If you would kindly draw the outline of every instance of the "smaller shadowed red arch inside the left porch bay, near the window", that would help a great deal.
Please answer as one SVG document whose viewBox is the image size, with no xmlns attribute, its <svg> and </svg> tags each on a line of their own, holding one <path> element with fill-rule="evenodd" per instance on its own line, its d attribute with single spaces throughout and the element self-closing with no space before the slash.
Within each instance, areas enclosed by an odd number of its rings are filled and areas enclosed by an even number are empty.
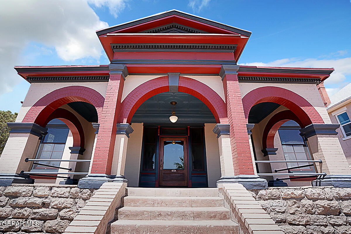
<svg viewBox="0 0 351 234">
<path fill-rule="evenodd" d="M 84 130 L 83 127 L 78 120 L 77 116 L 75 116 L 72 112 L 58 108 L 53 111 L 45 121 L 45 126 L 53 119 L 59 119 L 64 122 L 71 133 L 73 135 L 73 147 L 82 147 L 84 148 L 85 139 L 84 139 Z"/>
</svg>

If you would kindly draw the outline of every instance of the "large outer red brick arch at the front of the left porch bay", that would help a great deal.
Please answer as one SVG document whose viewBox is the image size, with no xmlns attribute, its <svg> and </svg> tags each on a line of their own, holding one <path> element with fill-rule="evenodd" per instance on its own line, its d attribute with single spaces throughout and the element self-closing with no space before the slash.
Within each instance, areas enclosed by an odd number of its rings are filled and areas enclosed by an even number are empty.
<svg viewBox="0 0 351 234">
<path fill-rule="evenodd" d="M 67 86 L 56 89 L 35 102 L 22 122 L 37 123 L 45 127 L 46 119 L 55 109 L 75 101 L 92 104 L 96 108 L 98 119 L 101 119 L 105 98 L 99 92 L 84 86 Z"/>
</svg>

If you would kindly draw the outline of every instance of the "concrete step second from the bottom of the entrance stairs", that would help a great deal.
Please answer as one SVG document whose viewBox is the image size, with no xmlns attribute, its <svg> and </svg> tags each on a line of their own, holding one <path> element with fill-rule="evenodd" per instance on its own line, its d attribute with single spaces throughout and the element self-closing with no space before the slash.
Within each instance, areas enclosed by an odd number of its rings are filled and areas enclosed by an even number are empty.
<svg viewBox="0 0 351 234">
<path fill-rule="evenodd" d="M 230 220 L 230 210 L 224 207 L 122 207 L 121 220 Z"/>
</svg>

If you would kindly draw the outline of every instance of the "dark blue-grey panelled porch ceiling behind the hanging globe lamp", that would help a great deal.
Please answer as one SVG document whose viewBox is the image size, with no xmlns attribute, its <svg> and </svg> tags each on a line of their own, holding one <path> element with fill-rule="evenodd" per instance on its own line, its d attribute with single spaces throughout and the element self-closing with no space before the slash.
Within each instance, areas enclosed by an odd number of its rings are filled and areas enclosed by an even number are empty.
<svg viewBox="0 0 351 234">
<path fill-rule="evenodd" d="M 176 123 L 216 123 L 210 109 L 198 98 L 182 92 L 165 92 L 146 100 L 134 113 L 132 123 L 171 123 L 171 101 L 176 105 Z"/>
</svg>

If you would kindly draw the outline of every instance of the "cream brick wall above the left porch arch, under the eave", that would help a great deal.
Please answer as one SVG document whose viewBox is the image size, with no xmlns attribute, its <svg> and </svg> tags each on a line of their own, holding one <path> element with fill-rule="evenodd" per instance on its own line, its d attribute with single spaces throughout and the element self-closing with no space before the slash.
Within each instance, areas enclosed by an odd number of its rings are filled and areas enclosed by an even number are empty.
<svg viewBox="0 0 351 234">
<path fill-rule="evenodd" d="M 89 87 L 97 92 L 99 92 L 102 96 L 105 97 L 106 94 L 106 88 L 107 88 L 107 82 L 52 82 L 52 83 L 31 83 L 31 86 L 29 87 L 28 93 L 26 95 L 26 98 L 23 101 L 22 107 L 18 113 L 18 116 L 16 118 L 16 122 L 22 122 L 24 119 L 24 116 L 27 114 L 29 109 L 34 105 L 35 102 L 37 102 L 39 99 L 41 99 L 43 96 L 45 96 L 48 93 L 51 93 L 52 91 L 67 87 L 67 86 L 84 86 L 84 87 Z"/>
</svg>

